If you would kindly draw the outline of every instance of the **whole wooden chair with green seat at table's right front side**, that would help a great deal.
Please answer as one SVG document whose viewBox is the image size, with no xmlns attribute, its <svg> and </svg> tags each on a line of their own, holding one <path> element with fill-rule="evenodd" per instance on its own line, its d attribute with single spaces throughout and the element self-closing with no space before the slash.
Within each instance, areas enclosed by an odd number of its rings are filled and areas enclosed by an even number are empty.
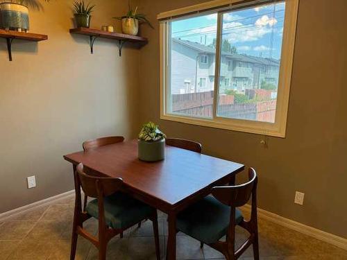
<svg viewBox="0 0 347 260">
<path fill-rule="evenodd" d="M 238 259 L 253 244 L 254 259 L 259 260 L 257 231 L 257 174 L 253 168 L 248 171 L 249 181 L 237 186 L 212 188 L 212 196 L 207 196 L 181 211 L 176 227 L 194 239 L 210 245 L 221 252 L 227 260 Z M 236 207 L 245 205 L 252 196 L 251 219 L 244 220 Z M 246 229 L 250 236 L 235 251 L 235 226 Z M 226 241 L 219 241 L 226 235 Z"/>
</svg>

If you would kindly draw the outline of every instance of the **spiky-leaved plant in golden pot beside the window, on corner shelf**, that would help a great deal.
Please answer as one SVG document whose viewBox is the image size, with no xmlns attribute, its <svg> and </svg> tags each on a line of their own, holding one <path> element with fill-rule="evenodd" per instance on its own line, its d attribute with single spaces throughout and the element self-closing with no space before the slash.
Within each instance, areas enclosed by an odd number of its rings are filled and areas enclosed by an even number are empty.
<svg viewBox="0 0 347 260">
<path fill-rule="evenodd" d="M 121 31 L 122 33 L 129 35 L 137 35 L 139 33 L 139 23 L 148 24 L 153 28 L 146 15 L 137 13 L 137 6 L 135 10 L 131 8 L 130 1 L 128 4 L 128 12 L 122 17 L 113 17 L 114 19 L 121 21 Z"/>
</svg>

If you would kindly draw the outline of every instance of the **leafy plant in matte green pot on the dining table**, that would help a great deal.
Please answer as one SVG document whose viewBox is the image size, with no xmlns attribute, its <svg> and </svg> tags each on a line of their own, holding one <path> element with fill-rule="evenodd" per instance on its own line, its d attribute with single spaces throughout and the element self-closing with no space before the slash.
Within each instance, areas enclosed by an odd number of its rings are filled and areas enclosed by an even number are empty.
<svg viewBox="0 0 347 260">
<path fill-rule="evenodd" d="M 139 132 L 138 157 L 145 162 L 161 161 L 165 157 L 165 134 L 153 122 L 145 123 Z"/>
</svg>

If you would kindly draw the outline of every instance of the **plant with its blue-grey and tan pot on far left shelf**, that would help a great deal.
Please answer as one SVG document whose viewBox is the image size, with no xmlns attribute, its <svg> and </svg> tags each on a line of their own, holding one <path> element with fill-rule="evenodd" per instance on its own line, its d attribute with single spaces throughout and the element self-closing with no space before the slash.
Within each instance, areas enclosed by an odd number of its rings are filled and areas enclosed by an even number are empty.
<svg viewBox="0 0 347 260">
<path fill-rule="evenodd" d="M 49 2 L 49 0 L 42 0 Z M 29 8 L 42 9 L 39 0 L 0 0 L 0 28 L 13 31 L 29 30 Z"/>
</svg>

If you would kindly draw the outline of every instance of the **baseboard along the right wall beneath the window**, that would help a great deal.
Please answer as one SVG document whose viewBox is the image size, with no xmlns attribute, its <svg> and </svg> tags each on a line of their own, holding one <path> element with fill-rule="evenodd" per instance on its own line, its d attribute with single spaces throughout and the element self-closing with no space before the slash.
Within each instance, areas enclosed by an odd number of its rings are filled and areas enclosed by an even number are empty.
<svg viewBox="0 0 347 260">
<path fill-rule="evenodd" d="M 242 207 L 242 209 L 245 209 L 246 211 L 251 211 L 251 205 L 245 205 L 244 207 Z M 294 220 L 290 220 L 289 218 L 284 218 L 284 217 L 279 216 L 277 214 L 273 214 L 273 213 L 266 211 L 264 209 L 258 208 L 257 214 L 258 214 L 259 218 L 269 220 L 269 221 L 276 223 L 278 225 L 281 225 L 283 227 L 293 229 L 293 230 L 295 230 L 297 232 L 301 232 L 302 234 L 305 234 L 307 236 L 312 236 L 315 239 L 319 239 L 319 240 L 324 241 L 326 243 L 329 243 L 331 245 L 335 245 L 339 248 L 347 250 L 347 239 L 344 239 L 341 236 L 336 236 L 334 234 L 324 232 L 320 229 L 316 229 L 314 227 L 310 227 L 310 226 L 298 223 Z"/>
</svg>

